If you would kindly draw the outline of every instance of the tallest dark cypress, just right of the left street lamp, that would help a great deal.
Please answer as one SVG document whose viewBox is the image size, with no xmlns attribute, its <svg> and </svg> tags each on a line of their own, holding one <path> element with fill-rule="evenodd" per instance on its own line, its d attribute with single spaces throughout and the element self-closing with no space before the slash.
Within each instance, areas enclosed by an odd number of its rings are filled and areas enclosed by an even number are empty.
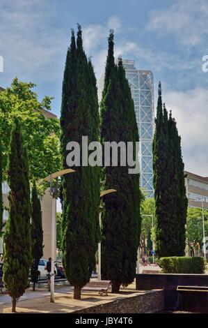
<svg viewBox="0 0 208 328">
<path fill-rule="evenodd" d="M 67 142 L 81 145 L 99 140 L 99 107 L 93 66 L 83 50 L 81 27 L 77 43 L 72 31 L 63 77 L 61 106 L 61 151 L 63 168 L 68 168 Z M 82 150 L 81 150 L 82 158 Z M 81 163 L 82 164 L 82 163 Z M 90 280 L 99 241 L 99 167 L 76 166 L 76 173 L 63 177 L 63 263 L 74 298 Z M 77 260 L 79 259 L 79 260 Z"/>
</svg>

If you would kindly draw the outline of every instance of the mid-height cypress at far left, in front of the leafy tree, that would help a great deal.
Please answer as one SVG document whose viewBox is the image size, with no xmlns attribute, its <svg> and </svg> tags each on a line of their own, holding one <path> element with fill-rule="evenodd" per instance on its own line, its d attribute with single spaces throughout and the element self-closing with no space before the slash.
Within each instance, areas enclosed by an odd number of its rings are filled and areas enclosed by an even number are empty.
<svg viewBox="0 0 208 328">
<path fill-rule="evenodd" d="M 29 165 L 19 121 L 15 119 L 8 155 L 9 218 L 6 223 L 3 281 L 12 298 L 15 312 L 17 299 L 28 287 L 31 257 L 31 203 Z"/>
</svg>

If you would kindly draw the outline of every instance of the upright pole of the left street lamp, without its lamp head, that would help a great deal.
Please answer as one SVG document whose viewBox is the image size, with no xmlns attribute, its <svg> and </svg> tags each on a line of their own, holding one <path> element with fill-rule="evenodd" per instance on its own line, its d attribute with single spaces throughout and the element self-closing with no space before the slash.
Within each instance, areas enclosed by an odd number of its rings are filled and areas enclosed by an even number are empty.
<svg viewBox="0 0 208 328">
<path fill-rule="evenodd" d="M 53 197 L 52 179 L 50 179 L 51 205 L 51 303 L 54 303 L 54 249 L 55 249 L 55 226 L 56 226 L 56 198 Z"/>
</svg>

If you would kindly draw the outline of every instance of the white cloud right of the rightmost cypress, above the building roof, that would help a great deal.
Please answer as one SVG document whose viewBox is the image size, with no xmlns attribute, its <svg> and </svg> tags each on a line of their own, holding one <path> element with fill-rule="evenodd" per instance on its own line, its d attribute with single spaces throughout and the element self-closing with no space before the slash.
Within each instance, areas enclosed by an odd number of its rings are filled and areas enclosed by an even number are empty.
<svg viewBox="0 0 208 328">
<path fill-rule="evenodd" d="M 173 91 L 163 98 L 173 112 L 182 137 L 185 169 L 208 177 L 208 90 Z"/>
</svg>

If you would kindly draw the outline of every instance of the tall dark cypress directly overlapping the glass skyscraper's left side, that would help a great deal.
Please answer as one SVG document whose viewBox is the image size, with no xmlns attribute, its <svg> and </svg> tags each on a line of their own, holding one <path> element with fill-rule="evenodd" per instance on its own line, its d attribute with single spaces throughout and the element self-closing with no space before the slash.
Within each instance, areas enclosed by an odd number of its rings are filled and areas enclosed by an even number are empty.
<svg viewBox="0 0 208 328">
<path fill-rule="evenodd" d="M 134 103 L 122 60 L 118 66 L 114 63 L 113 31 L 109 35 L 101 115 L 102 143 L 122 141 L 127 147 L 127 142 L 134 142 L 133 154 L 137 158 Z M 102 279 L 112 281 L 113 292 L 118 292 L 121 284 L 134 281 L 141 230 L 139 174 L 129 174 L 129 166 L 121 165 L 118 154 L 118 167 L 111 163 L 102 170 L 102 188 L 117 191 L 104 196 L 102 211 Z"/>
</svg>

